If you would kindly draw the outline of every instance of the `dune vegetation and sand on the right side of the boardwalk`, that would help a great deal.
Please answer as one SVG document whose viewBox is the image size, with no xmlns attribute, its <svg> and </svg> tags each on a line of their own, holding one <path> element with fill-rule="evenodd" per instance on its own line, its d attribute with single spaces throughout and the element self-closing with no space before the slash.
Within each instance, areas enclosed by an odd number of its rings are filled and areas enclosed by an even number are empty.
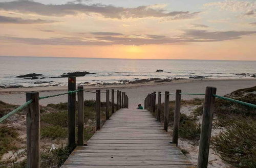
<svg viewBox="0 0 256 168">
<path fill-rule="evenodd" d="M 256 104 L 256 86 L 234 91 L 225 97 Z M 194 146 L 199 145 L 203 102 L 204 99 L 199 98 L 182 100 L 179 141 L 184 140 Z M 175 101 L 170 101 L 169 107 L 169 127 L 172 130 Z M 163 112 L 162 103 L 161 121 L 163 121 Z M 256 109 L 217 98 L 210 144 L 210 148 L 230 165 L 256 167 Z M 188 154 L 189 151 L 183 153 Z"/>
</svg>

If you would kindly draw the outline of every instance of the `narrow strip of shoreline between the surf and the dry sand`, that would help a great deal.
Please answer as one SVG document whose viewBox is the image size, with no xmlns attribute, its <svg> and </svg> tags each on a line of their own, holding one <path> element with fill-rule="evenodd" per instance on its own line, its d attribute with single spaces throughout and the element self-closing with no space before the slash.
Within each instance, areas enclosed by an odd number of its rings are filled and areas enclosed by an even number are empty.
<svg viewBox="0 0 256 168">
<path fill-rule="evenodd" d="M 129 84 L 118 84 L 118 85 L 98 85 L 98 86 L 88 86 L 82 85 L 84 89 L 87 90 L 96 90 L 96 89 L 127 89 L 127 88 L 138 88 L 138 87 L 153 87 L 153 86 L 166 86 L 166 85 L 176 85 L 180 83 L 193 83 L 193 82 L 208 82 L 208 81 L 255 81 L 256 79 L 211 79 L 211 78 L 203 78 L 203 79 L 179 79 L 172 80 L 166 82 L 142 82 L 142 83 L 129 83 Z M 0 94 L 13 94 L 13 93 L 25 93 L 25 92 L 51 92 L 51 91 L 67 91 L 68 86 L 45 86 L 45 87 L 25 87 L 25 88 L 1 88 Z"/>
</svg>

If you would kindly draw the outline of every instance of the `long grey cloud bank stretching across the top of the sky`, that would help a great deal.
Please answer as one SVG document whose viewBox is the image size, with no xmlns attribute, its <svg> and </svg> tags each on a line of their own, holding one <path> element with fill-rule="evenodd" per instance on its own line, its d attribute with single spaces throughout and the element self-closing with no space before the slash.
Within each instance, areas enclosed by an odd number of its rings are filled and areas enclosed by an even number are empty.
<svg viewBox="0 0 256 168">
<path fill-rule="evenodd" d="M 80 2 L 80 1 L 79 1 Z M 19 0 L 0 3 L 0 9 L 5 11 L 16 11 L 20 13 L 34 13 L 45 16 L 65 16 L 84 14 L 100 14 L 105 18 L 127 19 L 127 18 L 145 18 L 168 17 L 170 20 L 189 19 L 195 17 L 199 12 L 190 13 L 189 11 L 166 12 L 164 6 L 139 6 L 136 8 L 115 7 L 113 5 L 102 4 L 76 4 L 67 3 L 62 5 L 41 4 L 38 2 Z"/>
</svg>

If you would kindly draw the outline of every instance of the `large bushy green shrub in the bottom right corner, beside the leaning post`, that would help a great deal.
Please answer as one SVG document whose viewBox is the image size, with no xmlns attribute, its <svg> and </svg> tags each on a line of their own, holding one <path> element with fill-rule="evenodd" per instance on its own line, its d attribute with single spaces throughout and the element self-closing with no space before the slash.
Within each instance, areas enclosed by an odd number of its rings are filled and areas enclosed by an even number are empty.
<svg viewBox="0 0 256 168">
<path fill-rule="evenodd" d="M 237 167 L 256 167 L 256 122 L 233 120 L 227 130 L 212 138 L 221 158 Z"/>
</svg>

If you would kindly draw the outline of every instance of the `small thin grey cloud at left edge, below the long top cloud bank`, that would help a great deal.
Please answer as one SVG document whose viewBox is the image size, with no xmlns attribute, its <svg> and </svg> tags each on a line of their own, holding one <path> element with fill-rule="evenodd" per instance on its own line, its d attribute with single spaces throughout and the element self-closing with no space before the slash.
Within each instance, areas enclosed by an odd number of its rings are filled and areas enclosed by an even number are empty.
<svg viewBox="0 0 256 168">
<path fill-rule="evenodd" d="M 53 20 L 42 19 L 22 19 L 19 17 L 0 16 L 0 23 L 13 23 L 13 24 L 41 24 L 41 23 L 53 23 Z"/>
</svg>

